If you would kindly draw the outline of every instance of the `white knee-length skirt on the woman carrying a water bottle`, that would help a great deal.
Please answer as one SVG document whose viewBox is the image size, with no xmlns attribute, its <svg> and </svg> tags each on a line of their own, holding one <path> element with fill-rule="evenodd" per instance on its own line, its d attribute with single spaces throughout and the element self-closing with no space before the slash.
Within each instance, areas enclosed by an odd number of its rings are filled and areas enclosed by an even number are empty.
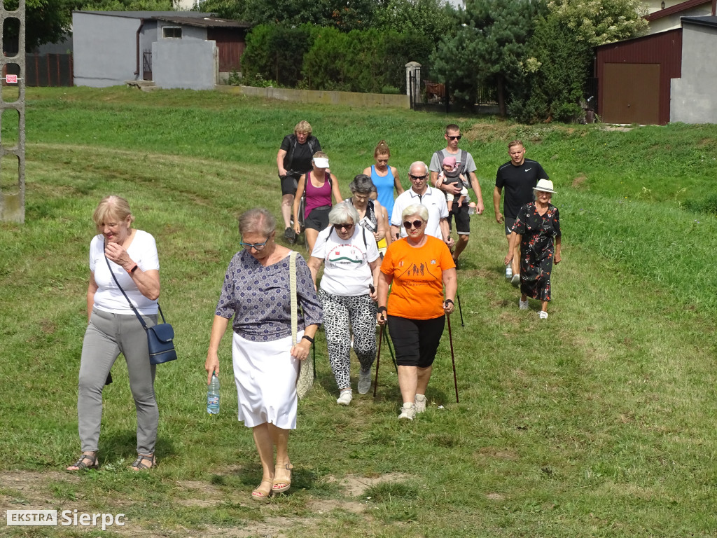
<svg viewBox="0 0 717 538">
<path fill-rule="evenodd" d="M 239 420 L 247 428 L 271 423 L 277 428 L 295 430 L 299 361 L 290 354 L 291 336 L 255 342 L 232 334 Z M 302 335 L 300 331 L 298 338 Z"/>
</svg>

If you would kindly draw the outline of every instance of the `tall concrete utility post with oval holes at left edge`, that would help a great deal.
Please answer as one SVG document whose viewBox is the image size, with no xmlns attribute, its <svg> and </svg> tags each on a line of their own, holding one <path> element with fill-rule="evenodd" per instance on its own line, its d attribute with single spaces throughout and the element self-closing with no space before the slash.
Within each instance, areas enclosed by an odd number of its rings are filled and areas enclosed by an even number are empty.
<svg viewBox="0 0 717 538">
<path fill-rule="evenodd" d="M 25 0 L 16 11 L 0 2 L 0 26 L 4 48 L 12 43 L 5 39 L 9 28 L 18 32 L 17 51 L 0 54 L 0 220 L 25 222 Z M 16 139 L 9 136 L 15 125 Z"/>
</svg>

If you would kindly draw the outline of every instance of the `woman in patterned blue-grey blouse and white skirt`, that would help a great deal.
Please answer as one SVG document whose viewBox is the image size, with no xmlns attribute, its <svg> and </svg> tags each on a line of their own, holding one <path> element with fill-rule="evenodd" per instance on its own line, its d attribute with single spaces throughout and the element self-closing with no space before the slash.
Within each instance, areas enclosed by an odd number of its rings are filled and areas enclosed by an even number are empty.
<svg viewBox="0 0 717 538">
<path fill-rule="evenodd" d="M 308 357 L 321 324 L 321 306 L 308 266 L 296 257 L 298 342 L 291 344 L 290 250 L 275 242 L 276 220 L 266 209 L 239 217 L 243 250 L 229 262 L 219 297 L 204 367 L 207 382 L 219 375 L 217 351 L 232 322 L 234 381 L 239 420 L 252 428 L 262 462 L 260 485 L 252 498 L 265 499 L 289 489 L 289 430 L 296 428 L 296 379 L 299 361 Z M 276 450 L 276 460 L 274 459 Z"/>
</svg>

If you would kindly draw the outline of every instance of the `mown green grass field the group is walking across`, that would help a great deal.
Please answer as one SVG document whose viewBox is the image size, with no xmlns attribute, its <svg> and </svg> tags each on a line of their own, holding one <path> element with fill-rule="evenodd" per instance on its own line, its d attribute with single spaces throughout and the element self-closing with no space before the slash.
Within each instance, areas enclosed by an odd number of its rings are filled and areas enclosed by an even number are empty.
<svg viewBox="0 0 717 538">
<path fill-rule="evenodd" d="M 318 339 L 318 383 L 290 438 L 290 494 L 255 504 L 261 471 L 236 419 L 224 342 L 222 412 L 206 414 L 204 358 L 235 217 L 278 214 L 275 156 L 312 123 L 348 194 L 385 138 L 412 161 L 462 127 L 486 214 L 458 273 L 429 410 L 399 423 L 385 347 L 378 397 L 336 403 Z M 407 110 L 302 106 L 219 93 L 55 88 L 27 93 L 24 225 L 0 223 L 0 504 L 124 513 L 124 527 L 0 527 L 10 537 L 711 537 L 717 534 L 714 318 L 717 126 L 522 126 Z M 14 133 L 2 126 L 3 140 Z M 15 134 L 16 136 L 16 134 Z M 563 263 L 550 318 L 518 311 L 493 219 L 495 170 L 522 138 L 558 193 Z M 7 189 L 3 176 L 0 188 Z M 157 457 L 127 470 L 135 417 L 122 361 L 105 390 L 100 471 L 79 453 L 77 371 L 91 214 L 127 197 L 157 239 L 161 304 L 181 358 L 158 369 Z M 228 339 L 225 339 L 228 340 Z"/>
</svg>

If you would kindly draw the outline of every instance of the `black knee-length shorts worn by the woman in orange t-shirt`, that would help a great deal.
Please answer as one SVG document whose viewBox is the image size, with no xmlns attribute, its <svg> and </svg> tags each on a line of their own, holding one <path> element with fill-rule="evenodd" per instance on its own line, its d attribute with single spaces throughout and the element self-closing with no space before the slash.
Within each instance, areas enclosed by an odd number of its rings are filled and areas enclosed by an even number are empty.
<svg viewBox="0 0 717 538">
<path fill-rule="evenodd" d="M 446 317 L 409 319 L 389 316 L 389 332 L 396 350 L 396 364 L 427 368 L 436 358 Z"/>
</svg>

